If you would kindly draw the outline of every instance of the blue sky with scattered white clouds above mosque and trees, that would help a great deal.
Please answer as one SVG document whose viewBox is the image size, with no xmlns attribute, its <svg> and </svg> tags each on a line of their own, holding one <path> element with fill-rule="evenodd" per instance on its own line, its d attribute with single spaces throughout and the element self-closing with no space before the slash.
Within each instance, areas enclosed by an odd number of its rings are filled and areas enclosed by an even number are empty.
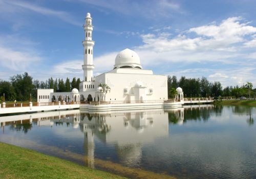
<svg viewBox="0 0 256 179">
<path fill-rule="evenodd" d="M 25 72 L 39 81 L 82 79 L 90 12 L 95 76 L 129 48 L 154 74 L 256 87 L 255 7 L 254 0 L 0 0 L 0 79 Z"/>
</svg>

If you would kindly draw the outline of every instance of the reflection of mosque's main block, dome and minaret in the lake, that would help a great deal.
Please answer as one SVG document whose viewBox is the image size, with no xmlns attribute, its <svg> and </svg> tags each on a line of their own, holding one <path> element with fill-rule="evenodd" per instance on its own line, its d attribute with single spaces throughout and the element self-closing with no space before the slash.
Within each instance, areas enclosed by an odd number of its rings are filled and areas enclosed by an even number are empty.
<svg viewBox="0 0 256 179">
<path fill-rule="evenodd" d="M 121 163 L 136 166 L 144 144 L 168 136 L 167 115 L 163 109 L 81 114 L 79 125 L 84 132 L 88 165 L 94 167 L 94 138 L 97 137 L 115 146 Z"/>
</svg>

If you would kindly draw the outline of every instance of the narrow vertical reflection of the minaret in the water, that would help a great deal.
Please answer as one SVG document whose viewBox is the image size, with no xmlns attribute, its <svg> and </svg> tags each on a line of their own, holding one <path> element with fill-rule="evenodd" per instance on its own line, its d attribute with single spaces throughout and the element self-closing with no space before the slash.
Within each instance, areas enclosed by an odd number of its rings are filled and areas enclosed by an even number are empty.
<svg viewBox="0 0 256 179">
<path fill-rule="evenodd" d="M 94 125 L 83 124 L 84 146 L 87 150 L 86 165 L 90 168 L 94 168 L 94 128 Z"/>
</svg>

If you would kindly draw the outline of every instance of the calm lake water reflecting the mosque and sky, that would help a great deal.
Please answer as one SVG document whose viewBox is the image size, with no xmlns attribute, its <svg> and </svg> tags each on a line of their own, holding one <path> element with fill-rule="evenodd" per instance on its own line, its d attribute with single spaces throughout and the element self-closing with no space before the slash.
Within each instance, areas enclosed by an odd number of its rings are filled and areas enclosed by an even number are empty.
<svg viewBox="0 0 256 179">
<path fill-rule="evenodd" d="M 0 117 L 0 141 L 129 177 L 256 178 L 255 120 L 247 106 L 52 111 Z"/>
</svg>

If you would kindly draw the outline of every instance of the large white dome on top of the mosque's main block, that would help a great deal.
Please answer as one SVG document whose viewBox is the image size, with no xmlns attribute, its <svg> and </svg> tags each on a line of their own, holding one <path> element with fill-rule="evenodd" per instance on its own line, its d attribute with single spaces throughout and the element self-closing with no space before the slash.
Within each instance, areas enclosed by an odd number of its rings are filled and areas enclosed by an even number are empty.
<svg viewBox="0 0 256 179">
<path fill-rule="evenodd" d="M 124 49 L 119 52 L 115 59 L 114 69 L 116 68 L 137 68 L 142 69 L 140 57 L 130 49 Z"/>
</svg>

